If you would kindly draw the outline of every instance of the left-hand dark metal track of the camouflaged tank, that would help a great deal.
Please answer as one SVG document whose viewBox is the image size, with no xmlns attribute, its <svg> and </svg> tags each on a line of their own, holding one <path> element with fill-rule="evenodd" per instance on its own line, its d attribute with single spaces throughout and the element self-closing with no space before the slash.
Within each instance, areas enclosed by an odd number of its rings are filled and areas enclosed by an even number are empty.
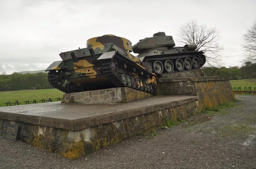
<svg viewBox="0 0 256 169">
<path fill-rule="evenodd" d="M 74 90 L 67 89 L 67 88 L 62 86 L 64 82 L 60 83 L 58 73 L 56 71 L 48 72 L 47 77 L 48 77 L 48 81 L 49 81 L 49 83 L 52 87 L 57 88 L 57 89 L 59 89 L 60 91 L 62 91 L 64 93 L 73 93 L 73 92 L 75 92 Z"/>
</svg>

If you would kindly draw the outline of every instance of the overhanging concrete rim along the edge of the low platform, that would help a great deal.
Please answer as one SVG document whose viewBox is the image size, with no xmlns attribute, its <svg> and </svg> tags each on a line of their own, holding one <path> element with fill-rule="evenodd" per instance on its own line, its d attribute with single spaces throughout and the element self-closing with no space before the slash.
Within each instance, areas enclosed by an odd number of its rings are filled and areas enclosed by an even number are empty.
<svg viewBox="0 0 256 169">
<path fill-rule="evenodd" d="M 191 96 L 190 99 L 177 100 L 173 102 L 165 102 L 161 104 L 155 104 L 155 105 L 144 106 L 144 107 L 135 108 L 135 109 L 117 111 L 109 114 L 91 116 L 91 117 L 75 119 L 75 120 L 23 115 L 23 114 L 8 113 L 8 112 L 0 112 L 0 119 L 75 131 L 75 130 L 82 130 L 88 127 L 94 127 L 101 124 L 115 122 L 118 120 L 123 120 L 125 118 L 130 118 L 134 116 L 151 113 L 154 111 L 159 111 L 163 109 L 180 106 L 188 102 L 197 101 L 198 99 L 199 99 L 198 96 Z"/>
</svg>

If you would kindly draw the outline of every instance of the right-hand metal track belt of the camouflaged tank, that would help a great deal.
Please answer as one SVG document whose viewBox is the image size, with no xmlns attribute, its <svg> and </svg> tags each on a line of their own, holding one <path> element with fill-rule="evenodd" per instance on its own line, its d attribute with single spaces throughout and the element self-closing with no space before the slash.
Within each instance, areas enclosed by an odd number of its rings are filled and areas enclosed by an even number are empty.
<svg viewBox="0 0 256 169">
<path fill-rule="evenodd" d="M 128 60 L 125 60 L 123 58 L 121 58 L 120 56 L 118 56 L 117 54 L 113 57 L 114 59 L 116 59 L 117 62 L 121 62 L 121 63 L 126 63 L 127 64 L 127 67 L 130 66 L 130 67 L 135 67 L 135 69 L 137 70 L 140 70 L 143 72 L 143 74 L 148 74 L 148 72 L 144 69 L 142 69 L 141 67 L 135 65 L 134 63 L 131 63 L 129 62 Z M 128 87 L 128 88 L 133 88 L 133 89 L 136 89 L 136 90 L 141 90 L 141 91 L 144 91 L 144 92 L 147 92 L 147 93 L 154 93 L 155 90 L 156 90 L 156 87 L 153 88 L 153 92 L 150 92 L 148 90 L 144 90 L 144 89 L 141 89 L 141 88 L 134 88 L 132 86 L 128 86 L 128 85 L 125 85 L 120 79 L 119 77 L 117 76 L 117 74 L 115 74 L 115 67 L 113 67 L 113 59 L 112 60 L 108 60 L 108 63 L 102 63 L 103 65 L 103 68 L 102 68 L 102 73 L 105 74 L 105 76 L 107 76 L 108 80 L 115 86 L 115 87 Z"/>
</svg>

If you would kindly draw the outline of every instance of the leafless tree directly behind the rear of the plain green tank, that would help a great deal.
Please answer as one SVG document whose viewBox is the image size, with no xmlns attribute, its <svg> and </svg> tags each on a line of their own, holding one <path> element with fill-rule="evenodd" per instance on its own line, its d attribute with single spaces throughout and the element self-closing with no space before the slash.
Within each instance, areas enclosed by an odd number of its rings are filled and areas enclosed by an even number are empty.
<svg viewBox="0 0 256 169">
<path fill-rule="evenodd" d="M 220 64 L 223 48 L 218 43 L 220 32 L 216 28 L 207 28 L 205 25 L 198 25 L 196 20 L 190 20 L 180 26 L 177 36 L 181 45 L 196 44 L 198 50 L 204 51 L 206 66 Z"/>
</svg>

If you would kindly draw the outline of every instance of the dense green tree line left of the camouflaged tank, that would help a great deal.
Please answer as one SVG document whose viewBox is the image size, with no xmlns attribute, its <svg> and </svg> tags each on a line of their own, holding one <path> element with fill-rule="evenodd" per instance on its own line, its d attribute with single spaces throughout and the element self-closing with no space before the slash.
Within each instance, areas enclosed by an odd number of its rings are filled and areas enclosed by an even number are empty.
<svg viewBox="0 0 256 169">
<path fill-rule="evenodd" d="M 47 73 L 0 74 L 0 91 L 52 88 Z"/>
</svg>

